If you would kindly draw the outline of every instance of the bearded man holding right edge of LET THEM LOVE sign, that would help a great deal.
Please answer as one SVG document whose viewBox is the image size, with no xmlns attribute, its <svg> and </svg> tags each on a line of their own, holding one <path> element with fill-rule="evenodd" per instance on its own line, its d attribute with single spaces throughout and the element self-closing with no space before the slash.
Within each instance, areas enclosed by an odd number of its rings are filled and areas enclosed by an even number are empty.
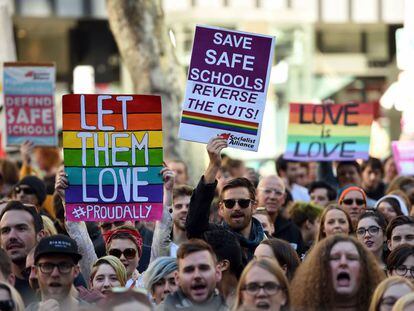
<svg viewBox="0 0 414 311">
<path fill-rule="evenodd" d="M 185 221 L 193 188 L 174 186 L 175 173 L 169 168 L 161 171 L 164 180 L 164 210 L 162 219 L 155 224 L 151 247 L 151 262 L 159 256 L 177 256 L 178 247 L 187 242 Z"/>
</svg>

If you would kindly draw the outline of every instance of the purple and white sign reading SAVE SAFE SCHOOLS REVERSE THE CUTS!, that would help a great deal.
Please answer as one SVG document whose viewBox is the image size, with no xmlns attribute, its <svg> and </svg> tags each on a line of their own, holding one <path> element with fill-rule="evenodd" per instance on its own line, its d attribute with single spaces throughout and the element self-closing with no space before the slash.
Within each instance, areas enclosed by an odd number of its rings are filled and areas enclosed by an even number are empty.
<svg viewBox="0 0 414 311">
<path fill-rule="evenodd" d="M 179 137 L 257 151 L 274 37 L 197 26 Z"/>
</svg>

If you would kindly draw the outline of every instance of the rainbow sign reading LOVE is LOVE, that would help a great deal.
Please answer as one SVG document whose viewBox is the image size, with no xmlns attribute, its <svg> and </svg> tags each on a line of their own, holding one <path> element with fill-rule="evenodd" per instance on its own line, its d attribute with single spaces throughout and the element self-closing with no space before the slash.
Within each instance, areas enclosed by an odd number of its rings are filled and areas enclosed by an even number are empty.
<svg viewBox="0 0 414 311">
<path fill-rule="evenodd" d="M 372 104 L 290 104 L 284 158 L 297 161 L 367 159 Z"/>
</svg>

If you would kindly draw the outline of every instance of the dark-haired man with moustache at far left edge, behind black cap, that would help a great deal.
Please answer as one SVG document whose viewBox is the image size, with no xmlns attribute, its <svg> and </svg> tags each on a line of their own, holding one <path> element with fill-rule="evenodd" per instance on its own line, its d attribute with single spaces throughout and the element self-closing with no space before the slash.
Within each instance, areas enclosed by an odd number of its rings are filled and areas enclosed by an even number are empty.
<svg viewBox="0 0 414 311">
<path fill-rule="evenodd" d="M 12 261 L 15 287 L 25 304 L 36 300 L 35 292 L 22 272 L 30 250 L 44 236 L 42 218 L 34 206 L 10 201 L 0 214 L 0 244 Z"/>
</svg>

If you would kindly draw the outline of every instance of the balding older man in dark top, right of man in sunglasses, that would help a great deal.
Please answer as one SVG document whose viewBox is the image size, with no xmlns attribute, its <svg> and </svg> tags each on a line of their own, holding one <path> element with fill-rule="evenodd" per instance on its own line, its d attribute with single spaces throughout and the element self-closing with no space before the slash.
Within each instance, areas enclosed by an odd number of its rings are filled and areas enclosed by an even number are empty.
<svg viewBox="0 0 414 311">
<path fill-rule="evenodd" d="M 299 256 L 304 251 L 303 239 L 299 228 L 282 215 L 286 189 L 283 180 L 276 176 L 267 176 L 259 181 L 257 187 L 258 206 L 265 207 L 275 227 L 273 236 L 292 245 Z"/>
</svg>

